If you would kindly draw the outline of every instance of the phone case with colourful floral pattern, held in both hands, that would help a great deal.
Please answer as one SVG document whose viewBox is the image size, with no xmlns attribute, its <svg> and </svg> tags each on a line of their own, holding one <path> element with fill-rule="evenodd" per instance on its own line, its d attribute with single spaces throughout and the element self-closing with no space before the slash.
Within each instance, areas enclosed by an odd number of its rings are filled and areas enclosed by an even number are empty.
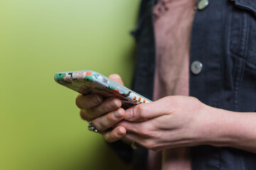
<svg viewBox="0 0 256 170">
<path fill-rule="evenodd" d="M 122 100 L 122 108 L 151 102 L 149 99 L 102 74 L 89 70 L 59 72 L 55 74 L 54 79 L 58 84 L 78 91 L 80 94 L 100 94 L 105 98 L 110 96 L 118 97 Z"/>
</svg>

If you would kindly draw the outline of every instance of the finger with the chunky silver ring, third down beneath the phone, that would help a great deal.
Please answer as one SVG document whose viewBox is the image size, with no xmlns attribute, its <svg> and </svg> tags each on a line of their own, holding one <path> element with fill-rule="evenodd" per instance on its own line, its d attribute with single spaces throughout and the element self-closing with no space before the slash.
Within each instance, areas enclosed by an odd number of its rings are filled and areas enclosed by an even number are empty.
<svg viewBox="0 0 256 170">
<path fill-rule="evenodd" d="M 96 118 L 92 121 L 93 125 L 95 125 L 95 128 L 99 130 L 100 132 L 103 132 L 109 128 L 112 128 L 112 126 L 116 123 L 118 123 L 120 120 L 122 120 L 125 116 L 125 111 L 123 108 L 119 108 L 116 111 L 112 111 L 110 113 L 107 113 L 105 115 L 100 116 L 99 118 Z"/>
</svg>

